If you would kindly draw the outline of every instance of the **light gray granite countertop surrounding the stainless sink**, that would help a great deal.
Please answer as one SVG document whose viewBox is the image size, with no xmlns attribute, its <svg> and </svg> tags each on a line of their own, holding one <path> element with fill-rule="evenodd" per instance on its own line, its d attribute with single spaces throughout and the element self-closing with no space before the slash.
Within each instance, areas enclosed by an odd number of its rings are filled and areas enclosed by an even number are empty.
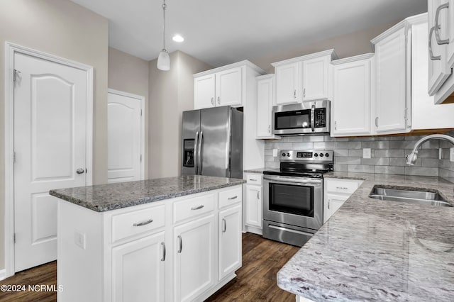
<svg viewBox="0 0 454 302">
<path fill-rule="evenodd" d="M 280 288 L 314 301 L 453 301 L 454 208 L 380 201 L 375 184 L 435 189 L 438 177 L 330 172 L 364 182 L 277 274 Z"/>
</svg>

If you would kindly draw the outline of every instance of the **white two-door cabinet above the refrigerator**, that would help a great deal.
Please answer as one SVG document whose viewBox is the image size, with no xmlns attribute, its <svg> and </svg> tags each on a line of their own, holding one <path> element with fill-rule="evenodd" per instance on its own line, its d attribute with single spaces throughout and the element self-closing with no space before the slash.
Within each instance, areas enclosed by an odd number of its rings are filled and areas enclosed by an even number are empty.
<svg viewBox="0 0 454 302">
<path fill-rule="evenodd" d="M 194 109 L 243 104 L 242 67 L 194 78 Z"/>
</svg>

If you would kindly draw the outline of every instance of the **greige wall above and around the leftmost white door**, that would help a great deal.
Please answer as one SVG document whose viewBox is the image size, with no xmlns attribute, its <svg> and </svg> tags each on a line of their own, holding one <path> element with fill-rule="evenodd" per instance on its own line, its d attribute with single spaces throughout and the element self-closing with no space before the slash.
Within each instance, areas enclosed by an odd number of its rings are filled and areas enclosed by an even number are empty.
<svg viewBox="0 0 454 302">
<path fill-rule="evenodd" d="M 0 1 L 0 96 L 5 42 L 94 67 L 94 184 L 107 181 L 107 19 L 62 0 Z M 4 101 L 0 102 L 0 269 L 4 268 Z"/>
</svg>

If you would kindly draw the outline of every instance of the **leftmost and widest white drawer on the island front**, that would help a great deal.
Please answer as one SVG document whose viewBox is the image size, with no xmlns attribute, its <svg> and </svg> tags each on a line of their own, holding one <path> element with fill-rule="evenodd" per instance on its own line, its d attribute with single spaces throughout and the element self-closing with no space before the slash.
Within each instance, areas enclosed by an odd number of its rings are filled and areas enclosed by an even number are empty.
<svg viewBox="0 0 454 302">
<path fill-rule="evenodd" d="M 112 216 L 112 242 L 164 226 L 165 206 Z"/>
</svg>

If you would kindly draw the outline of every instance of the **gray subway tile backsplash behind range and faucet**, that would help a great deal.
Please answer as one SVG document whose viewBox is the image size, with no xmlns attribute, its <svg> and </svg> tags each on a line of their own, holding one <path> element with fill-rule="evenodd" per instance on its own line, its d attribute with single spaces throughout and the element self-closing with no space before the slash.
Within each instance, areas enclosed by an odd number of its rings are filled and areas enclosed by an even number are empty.
<svg viewBox="0 0 454 302">
<path fill-rule="evenodd" d="M 454 136 L 454 131 L 451 135 Z M 420 138 L 423 136 L 287 136 L 282 137 L 282 140 L 265 142 L 265 167 L 279 168 L 279 158 L 272 156 L 273 149 L 333 150 L 334 171 L 454 177 L 454 162 L 449 161 L 450 144 L 440 140 L 423 143 L 416 164 L 405 164 L 406 155 L 409 155 L 416 140 Z M 444 148 L 442 160 L 438 160 L 439 147 Z M 370 159 L 362 158 L 363 148 L 371 149 Z"/>
</svg>

